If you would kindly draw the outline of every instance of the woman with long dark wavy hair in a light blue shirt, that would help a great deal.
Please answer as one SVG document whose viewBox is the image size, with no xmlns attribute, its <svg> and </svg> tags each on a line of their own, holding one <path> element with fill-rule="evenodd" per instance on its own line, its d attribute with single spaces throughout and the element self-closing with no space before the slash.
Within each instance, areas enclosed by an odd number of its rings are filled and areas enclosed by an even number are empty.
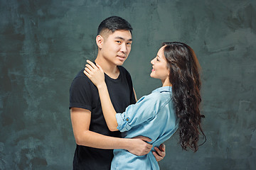
<svg viewBox="0 0 256 170">
<path fill-rule="evenodd" d="M 110 130 L 124 132 L 124 137 L 138 135 L 151 138 L 151 145 L 159 147 L 179 130 L 181 147 L 198 150 L 201 129 L 201 81 L 198 60 L 188 45 L 165 42 L 151 60 L 150 76 L 160 79 L 163 86 L 143 96 L 124 113 L 116 113 L 99 65 L 87 61 L 84 73 L 97 86 L 102 111 Z M 154 148 L 153 147 L 153 148 Z M 124 149 L 114 149 L 111 169 L 159 169 L 152 152 L 138 157 Z"/>
</svg>

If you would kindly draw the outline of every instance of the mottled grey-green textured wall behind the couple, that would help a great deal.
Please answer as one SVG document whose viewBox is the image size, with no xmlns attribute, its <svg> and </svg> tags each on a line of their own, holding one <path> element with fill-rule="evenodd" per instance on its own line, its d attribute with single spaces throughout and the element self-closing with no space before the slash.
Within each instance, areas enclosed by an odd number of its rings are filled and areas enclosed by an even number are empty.
<svg viewBox="0 0 256 170">
<path fill-rule="evenodd" d="M 150 60 L 161 42 L 186 42 L 203 69 L 198 152 L 177 135 L 161 169 L 255 169 L 256 2 L 250 0 L 0 0 L 0 169 L 71 169 L 69 87 L 97 52 L 97 26 L 117 15 L 133 28 L 124 64 L 137 96 L 160 86 Z"/>
</svg>

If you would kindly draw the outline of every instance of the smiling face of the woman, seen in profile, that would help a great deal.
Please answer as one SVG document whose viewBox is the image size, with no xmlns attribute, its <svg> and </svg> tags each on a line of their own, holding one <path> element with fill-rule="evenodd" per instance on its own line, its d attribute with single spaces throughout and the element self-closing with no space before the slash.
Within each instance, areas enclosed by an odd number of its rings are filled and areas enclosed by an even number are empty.
<svg viewBox="0 0 256 170">
<path fill-rule="evenodd" d="M 164 47 L 161 47 L 156 57 L 151 60 L 153 69 L 151 70 L 150 77 L 161 79 L 161 81 L 169 79 L 169 69 L 167 68 L 166 57 L 164 57 Z"/>
</svg>

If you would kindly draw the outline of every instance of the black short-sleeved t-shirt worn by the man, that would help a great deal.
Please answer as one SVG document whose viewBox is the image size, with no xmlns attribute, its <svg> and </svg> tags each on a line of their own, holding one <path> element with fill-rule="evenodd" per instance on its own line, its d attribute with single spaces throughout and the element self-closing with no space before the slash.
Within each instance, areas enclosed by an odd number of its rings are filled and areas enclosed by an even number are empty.
<svg viewBox="0 0 256 170">
<path fill-rule="evenodd" d="M 122 66 L 118 66 L 118 69 L 119 77 L 117 79 L 112 79 L 105 74 L 105 81 L 115 111 L 122 113 L 127 106 L 136 103 L 136 101 L 129 72 Z M 90 131 L 112 137 L 121 137 L 119 131 L 111 132 L 107 128 L 97 87 L 83 74 L 83 70 L 78 73 L 70 86 L 70 108 L 84 108 L 91 111 Z M 108 170 L 112 158 L 112 149 L 96 149 L 77 145 L 73 169 Z"/>
</svg>

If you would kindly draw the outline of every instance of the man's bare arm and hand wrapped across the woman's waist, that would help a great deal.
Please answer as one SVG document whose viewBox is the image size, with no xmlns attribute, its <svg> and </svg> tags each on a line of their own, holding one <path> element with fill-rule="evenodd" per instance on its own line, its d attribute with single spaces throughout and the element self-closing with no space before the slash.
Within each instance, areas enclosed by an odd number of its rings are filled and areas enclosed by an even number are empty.
<svg viewBox="0 0 256 170">
<path fill-rule="evenodd" d="M 78 145 L 95 147 L 99 149 L 127 149 L 132 154 L 142 156 L 148 154 L 152 145 L 147 137 L 134 139 L 109 137 L 89 130 L 91 113 L 83 108 L 71 108 L 70 117 Z"/>
</svg>

